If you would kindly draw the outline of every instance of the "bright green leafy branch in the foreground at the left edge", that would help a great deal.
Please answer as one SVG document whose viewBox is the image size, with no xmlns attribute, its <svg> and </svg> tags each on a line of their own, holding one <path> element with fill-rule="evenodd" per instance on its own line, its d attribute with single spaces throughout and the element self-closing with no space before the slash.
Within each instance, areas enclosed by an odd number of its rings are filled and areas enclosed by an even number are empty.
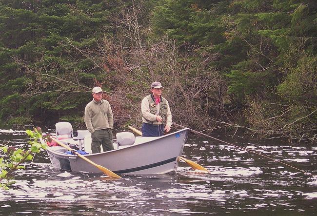
<svg viewBox="0 0 317 216">
<path fill-rule="evenodd" d="M 9 189 L 8 186 L 15 183 L 14 172 L 25 167 L 21 165 L 26 160 L 32 160 L 32 153 L 39 153 L 41 149 L 46 148 L 46 144 L 39 143 L 38 140 L 42 137 L 40 128 L 34 129 L 34 131 L 26 130 L 25 133 L 30 137 L 29 144 L 31 149 L 25 151 L 23 149 L 16 149 L 15 147 L 2 146 L 0 152 L 4 153 L 4 156 L 0 157 L 0 188 Z M 5 181 L 1 183 L 1 181 Z"/>
</svg>

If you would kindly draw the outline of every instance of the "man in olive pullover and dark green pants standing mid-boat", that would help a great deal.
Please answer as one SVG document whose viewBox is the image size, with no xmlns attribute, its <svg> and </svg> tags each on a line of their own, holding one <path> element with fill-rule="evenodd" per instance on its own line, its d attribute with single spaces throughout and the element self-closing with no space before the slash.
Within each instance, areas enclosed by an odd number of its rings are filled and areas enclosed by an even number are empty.
<svg viewBox="0 0 317 216">
<path fill-rule="evenodd" d="M 109 102 L 102 99 L 102 93 L 100 87 L 93 88 L 93 100 L 85 108 L 85 124 L 91 133 L 92 153 L 99 153 L 100 145 L 104 152 L 114 149 L 112 110 Z"/>
</svg>

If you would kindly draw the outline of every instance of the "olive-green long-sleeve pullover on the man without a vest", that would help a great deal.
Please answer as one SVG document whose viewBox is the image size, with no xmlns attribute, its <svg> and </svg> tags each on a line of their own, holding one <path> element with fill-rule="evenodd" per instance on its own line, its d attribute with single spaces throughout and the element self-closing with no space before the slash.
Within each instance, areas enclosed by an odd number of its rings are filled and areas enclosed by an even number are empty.
<svg viewBox="0 0 317 216">
<path fill-rule="evenodd" d="M 113 114 L 107 100 L 90 101 L 85 108 L 85 124 L 92 134 L 95 130 L 113 128 Z"/>
</svg>

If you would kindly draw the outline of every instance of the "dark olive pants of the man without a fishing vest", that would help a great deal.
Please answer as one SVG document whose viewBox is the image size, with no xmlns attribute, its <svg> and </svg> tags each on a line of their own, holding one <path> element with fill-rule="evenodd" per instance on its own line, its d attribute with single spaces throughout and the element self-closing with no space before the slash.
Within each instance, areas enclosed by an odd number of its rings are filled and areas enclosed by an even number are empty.
<svg viewBox="0 0 317 216">
<path fill-rule="evenodd" d="M 99 153 L 100 145 L 102 145 L 104 152 L 114 150 L 111 128 L 95 130 L 95 132 L 91 134 L 92 153 Z"/>
</svg>

